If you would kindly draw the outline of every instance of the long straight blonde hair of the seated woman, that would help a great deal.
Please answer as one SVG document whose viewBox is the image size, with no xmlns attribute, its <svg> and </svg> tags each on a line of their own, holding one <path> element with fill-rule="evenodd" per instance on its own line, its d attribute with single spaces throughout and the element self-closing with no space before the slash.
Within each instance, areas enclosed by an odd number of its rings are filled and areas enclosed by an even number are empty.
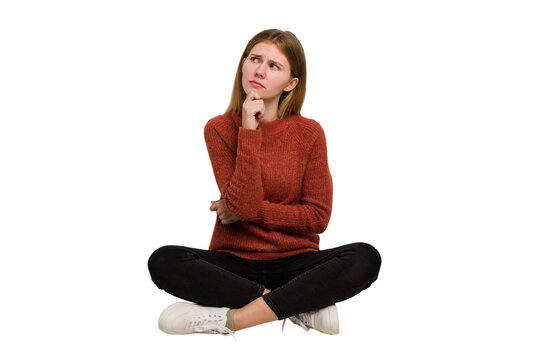
<svg viewBox="0 0 540 360">
<path fill-rule="evenodd" d="M 296 36 L 290 31 L 268 29 L 255 35 L 247 44 L 240 57 L 236 77 L 234 79 L 231 102 L 225 114 L 242 113 L 242 105 L 246 100 L 246 92 L 242 87 L 242 61 L 247 58 L 251 49 L 262 41 L 274 43 L 285 55 L 291 68 L 291 76 L 298 78 L 298 84 L 291 91 L 284 91 L 279 98 L 277 117 L 300 115 L 304 97 L 306 96 L 306 57 L 304 48 Z"/>
</svg>

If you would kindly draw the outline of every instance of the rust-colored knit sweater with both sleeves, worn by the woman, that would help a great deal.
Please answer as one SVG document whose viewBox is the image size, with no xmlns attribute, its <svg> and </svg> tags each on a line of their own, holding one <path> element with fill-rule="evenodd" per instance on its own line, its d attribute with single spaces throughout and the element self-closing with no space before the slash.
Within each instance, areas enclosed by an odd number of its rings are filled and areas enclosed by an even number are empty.
<svg viewBox="0 0 540 360">
<path fill-rule="evenodd" d="M 242 127 L 238 113 L 219 115 L 204 138 L 221 199 L 238 217 L 216 224 L 210 250 L 272 260 L 319 250 L 332 212 L 326 137 L 299 115 Z"/>
</svg>

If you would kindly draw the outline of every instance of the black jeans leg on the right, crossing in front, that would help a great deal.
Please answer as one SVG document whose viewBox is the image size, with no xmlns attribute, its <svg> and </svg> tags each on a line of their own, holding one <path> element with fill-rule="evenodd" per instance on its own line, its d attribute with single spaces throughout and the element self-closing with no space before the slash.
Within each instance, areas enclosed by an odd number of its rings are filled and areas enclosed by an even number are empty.
<svg viewBox="0 0 540 360">
<path fill-rule="evenodd" d="M 330 306 L 367 289 L 377 280 L 381 256 L 369 244 L 354 243 L 295 255 L 287 262 L 289 268 L 305 271 L 263 295 L 279 319 Z"/>
</svg>

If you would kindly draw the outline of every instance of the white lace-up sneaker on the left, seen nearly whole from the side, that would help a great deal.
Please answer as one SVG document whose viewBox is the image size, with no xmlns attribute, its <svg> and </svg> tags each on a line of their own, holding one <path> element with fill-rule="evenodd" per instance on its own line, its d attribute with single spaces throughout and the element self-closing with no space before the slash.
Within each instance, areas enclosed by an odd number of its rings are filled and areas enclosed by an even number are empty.
<svg viewBox="0 0 540 360">
<path fill-rule="evenodd" d="M 230 334 L 234 337 L 234 331 L 225 326 L 229 310 L 178 302 L 163 310 L 159 328 L 167 334 Z"/>
</svg>

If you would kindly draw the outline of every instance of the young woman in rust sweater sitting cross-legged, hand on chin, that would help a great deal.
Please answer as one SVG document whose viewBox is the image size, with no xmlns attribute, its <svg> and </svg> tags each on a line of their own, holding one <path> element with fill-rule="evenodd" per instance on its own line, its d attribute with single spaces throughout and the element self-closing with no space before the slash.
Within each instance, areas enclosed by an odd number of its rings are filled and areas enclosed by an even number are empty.
<svg viewBox="0 0 540 360">
<path fill-rule="evenodd" d="M 335 303 L 368 288 L 381 266 L 366 243 L 319 249 L 332 210 L 321 125 L 302 117 L 306 61 L 291 32 L 247 44 L 225 114 L 204 128 L 221 198 L 209 250 L 164 246 L 148 261 L 158 288 L 192 303 L 166 308 L 169 334 L 232 334 L 289 318 L 339 332 Z M 283 323 L 285 324 L 285 323 Z"/>
</svg>

